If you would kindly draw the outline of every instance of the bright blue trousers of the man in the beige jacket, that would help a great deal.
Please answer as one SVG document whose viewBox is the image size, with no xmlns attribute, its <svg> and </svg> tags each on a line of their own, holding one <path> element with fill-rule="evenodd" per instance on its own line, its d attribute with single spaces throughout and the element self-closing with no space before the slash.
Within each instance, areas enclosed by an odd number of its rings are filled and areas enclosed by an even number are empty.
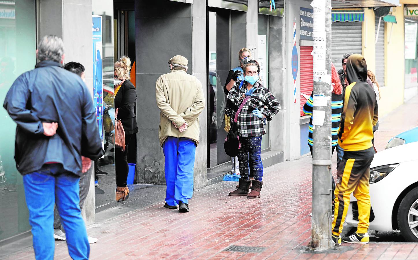
<svg viewBox="0 0 418 260">
<path fill-rule="evenodd" d="M 179 201 L 189 204 L 193 195 L 196 143 L 189 138 L 169 136 L 163 143 L 163 151 L 166 158 L 166 202 L 170 206 L 178 205 Z"/>
</svg>

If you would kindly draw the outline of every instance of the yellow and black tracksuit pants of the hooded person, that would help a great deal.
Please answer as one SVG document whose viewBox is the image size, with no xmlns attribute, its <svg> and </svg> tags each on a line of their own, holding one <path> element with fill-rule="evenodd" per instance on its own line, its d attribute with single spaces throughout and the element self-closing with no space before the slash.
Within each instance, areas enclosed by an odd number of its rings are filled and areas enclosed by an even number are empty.
<svg viewBox="0 0 418 260">
<path fill-rule="evenodd" d="M 332 234 L 338 236 L 342 232 L 347 210 L 350 204 L 350 194 L 354 192 L 359 208 L 359 224 L 357 233 L 366 233 L 370 218 L 370 164 L 375 150 L 373 147 L 361 151 L 344 151 L 337 171 L 335 187 L 334 221 Z"/>
</svg>

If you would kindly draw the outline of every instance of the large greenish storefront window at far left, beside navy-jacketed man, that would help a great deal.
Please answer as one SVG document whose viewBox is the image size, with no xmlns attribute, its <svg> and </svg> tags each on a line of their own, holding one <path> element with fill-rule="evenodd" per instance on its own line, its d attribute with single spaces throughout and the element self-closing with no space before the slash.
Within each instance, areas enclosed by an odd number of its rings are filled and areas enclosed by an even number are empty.
<svg viewBox="0 0 418 260">
<path fill-rule="evenodd" d="M 0 1 L 0 241 L 31 228 L 14 160 L 16 124 L 3 102 L 14 80 L 36 64 L 35 24 L 34 0 Z"/>
</svg>

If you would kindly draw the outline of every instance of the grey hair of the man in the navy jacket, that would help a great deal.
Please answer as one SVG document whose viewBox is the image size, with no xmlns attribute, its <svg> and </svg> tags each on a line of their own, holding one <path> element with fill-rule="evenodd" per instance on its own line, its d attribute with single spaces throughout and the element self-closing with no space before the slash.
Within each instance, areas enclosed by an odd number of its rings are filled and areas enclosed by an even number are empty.
<svg viewBox="0 0 418 260">
<path fill-rule="evenodd" d="M 38 43 L 39 61 L 61 62 L 64 55 L 64 43 L 62 39 L 55 35 L 43 36 Z"/>
</svg>

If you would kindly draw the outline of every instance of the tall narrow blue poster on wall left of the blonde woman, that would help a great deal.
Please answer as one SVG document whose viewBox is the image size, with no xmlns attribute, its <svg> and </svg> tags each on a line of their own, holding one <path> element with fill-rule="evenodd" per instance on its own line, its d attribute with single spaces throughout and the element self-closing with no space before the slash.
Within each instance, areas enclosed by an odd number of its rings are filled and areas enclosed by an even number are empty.
<svg viewBox="0 0 418 260">
<path fill-rule="evenodd" d="M 102 16 L 93 15 L 93 105 L 96 107 L 97 124 L 103 145 L 103 43 Z"/>
</svg>

